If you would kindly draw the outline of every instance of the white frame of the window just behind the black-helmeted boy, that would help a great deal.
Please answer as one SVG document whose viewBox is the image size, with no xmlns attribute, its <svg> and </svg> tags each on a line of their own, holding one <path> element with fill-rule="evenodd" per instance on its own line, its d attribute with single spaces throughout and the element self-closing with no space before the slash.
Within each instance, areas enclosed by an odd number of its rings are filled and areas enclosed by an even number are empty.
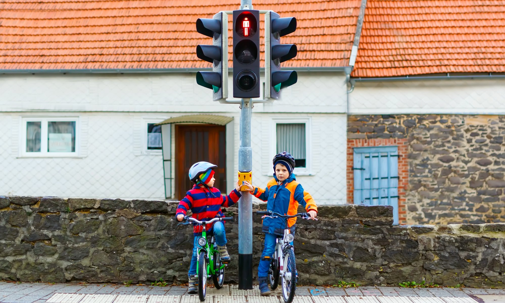
<svg viewBox="0 0 505 303">
<path fill-rule="evenodd" d="M 270 125 L 270 157 L 269 163 L 275 155 L 277 155 L 277 124 L 299 123 L 305 124 L 305 167 L 297 167 L 294 169 L 296 176 L 313 176 L 312 172 L 312 118 L 311 117 L 296 117 L 296 118 L 274 118 Z"/>
</svg>

